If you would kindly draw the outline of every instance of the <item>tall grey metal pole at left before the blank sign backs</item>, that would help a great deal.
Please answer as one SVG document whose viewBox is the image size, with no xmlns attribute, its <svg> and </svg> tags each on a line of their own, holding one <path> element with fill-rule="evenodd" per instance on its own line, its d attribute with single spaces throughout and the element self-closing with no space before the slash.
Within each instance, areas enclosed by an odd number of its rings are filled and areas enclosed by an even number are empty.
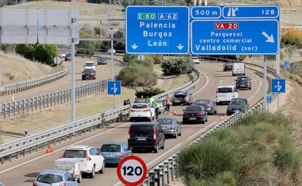
<svg viewBox="0 0 302 186">
<path fill-rule="evenodd" d="M 75 111 L 75 18 L 71 18 L 71 122 L 76 120 Z"/>
</svg>

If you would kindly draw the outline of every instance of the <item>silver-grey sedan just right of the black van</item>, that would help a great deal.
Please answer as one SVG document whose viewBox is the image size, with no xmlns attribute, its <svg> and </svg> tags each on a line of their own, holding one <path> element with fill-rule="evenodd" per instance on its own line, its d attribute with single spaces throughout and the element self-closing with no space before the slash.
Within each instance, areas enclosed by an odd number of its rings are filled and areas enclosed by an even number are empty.
<svg viewBox="0 0 302 186">
<path fill-rule="evenodd" d="M 165 135 L 172 135 L 173 138 L 181 136 L 181 125 L 174 117 L 159 117 L 156 122 L 165 130 Z"/>
</svg>

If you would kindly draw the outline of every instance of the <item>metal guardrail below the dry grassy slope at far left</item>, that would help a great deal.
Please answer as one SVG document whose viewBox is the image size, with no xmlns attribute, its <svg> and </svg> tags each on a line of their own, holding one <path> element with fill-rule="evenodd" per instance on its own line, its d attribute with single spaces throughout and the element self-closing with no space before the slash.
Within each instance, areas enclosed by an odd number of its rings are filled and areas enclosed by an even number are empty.
<svg viewBox="0 0 302 186">
<path fill-rule="evenodd" d="M 46 75 L 44 77 L 39 77 L 28 81 L 2 86 L 0 88 L 0 95 L 3 96 L 4 94 L 13 94 L 15 92 L 20 92 L 20 91 L 24 91 L 38 86 L 43 86 L 45 84 L 52 83 L 65 76 L 68 72 L 69 72 L 69 67 L 67 67 L 63 71 Z"/>
</svg>

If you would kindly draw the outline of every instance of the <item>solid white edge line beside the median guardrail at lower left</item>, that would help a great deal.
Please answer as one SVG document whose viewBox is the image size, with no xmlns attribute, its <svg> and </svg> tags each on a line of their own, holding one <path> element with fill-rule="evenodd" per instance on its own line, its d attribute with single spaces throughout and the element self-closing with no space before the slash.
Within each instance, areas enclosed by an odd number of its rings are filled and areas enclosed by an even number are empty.
<svg viewBox="0 0 302 186">
<path fill-rule="evenodd" d="M 107 130 L 107 132 L 109 132 L 109 131 L 111 131 L 111 130 L 118 129 L 118 128 L 122 127 L 122 126 L 128 125 L 129 123 L 132 123 L 132 122 L 128 122 L 128 123 L 122 124 L 122 125 L 120 125 L 120 126 L 118 126 L 118 127 L 115 127 L 115 128 L 113 128 L 113 129 L 109 129 L 109 130 Z M 105 128 L 104 128 L 104 129 L 105 129 Z M 78 144 L 78 143 L 85 142 L 85 141 L 87 141 L 87 140 L 90 140 L 90 139 L 92 139 L 92 138 L 95 138 L 95 137 L 97 137 L 97 136 L 100 136 L 100 135 L 102 135 L 102 134 L 104 134 L 104 133 L 105 133 L 105 131 L 104 131 L 104 132 L 101 132 L 101 133 L 99 133 L 99 134 L 96 134 L 96 135 L 94 135 L 94 136 L 91 136 L 91 137 L 89 137 L 89 138 L 86 138 L 86 139 L 84 139 L 84 140 L 78 141 L 78 142 L 76 142 L 76 143 L 70 144 L 70 145 L 68 145 L 68 146 L 62 147 L 62 148 L 60 148 L 60 149 L 58 149 L 58 150 L 55 150 L 53 153 L 56 153 L 56 152 L 58 152 L 58 151 L 60 151 L 60 150 L 63 150 L 63 149 L 66 149 L 66 148 L 69 147 L 69 146 L 73 146 L 73 145 L 76 145 L 76 144 Z M 51 153 L 51 154 L 53 154 L 53 153 Z M 18 168 L 18 167 L 20 167 L 20 166 L 22 166 L 22 165 L 26 165 L 26 164 L 28 164 L 28 163 L 30 163 L 30 162 L 32 162 L 32 161 L 37 160 L 37 159 L 41 159 L 42 157 L 49 156 L 49 155 L 51 155 L 51 154 L 45 154 L 45 155 L 42 155 L 42 156 L 40 156 L 40 157 L 36 157 L 36 158 L 34 158 L 34 159 L 31 159 L 31 160 L 29 160 L 29 161 L 26 161 L 26 162 L 24 162 L 24 163 L 21 163 L 21 164 L 19 164 L 19 165 L 16 165 L 16 166 L 14 166 L 14 167 L 11 167 L 11 168 L 9 168 L 9 169 L 3 170 L 3 171 L 0 172 L 0 174 L 1 174 L 1 173 L 4 173 L 4 172 L 7 172 L 7 171 L 10 171 L 10 170 L 13 170 L 13 169 L 15 169 L 15 168 Z"/>
</svg>

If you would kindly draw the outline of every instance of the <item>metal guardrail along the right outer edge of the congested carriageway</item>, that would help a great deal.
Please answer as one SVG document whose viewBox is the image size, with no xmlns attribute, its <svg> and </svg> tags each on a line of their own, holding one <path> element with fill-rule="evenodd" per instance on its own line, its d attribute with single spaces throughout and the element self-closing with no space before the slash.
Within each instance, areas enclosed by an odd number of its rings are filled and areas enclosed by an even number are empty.
<svg viewBox="0 0 302 186">
<path fill-rule="evenodd" d="M 217 57 L 200 57 L 202 59 L 215 59 L 216 61 L 221 62 L 241 62 L 237 60 L 231 60 L 231 59 L 223 59 L 223 58 L 217 58 Z M 247 63 L 243 62 L 247 66 L 251 68 L 258 68 L 263 70 L 264 67 L 261 65 L 253 64 L 253 63 Z M 268 68 L 268 73 L 270 73 L 272 76 L 276 78 L 280 78 L 280 75 L 277 74 L 274 69 Z M 273 100 L 276 99 L 276 94 L 273 94 Z M 263 110 L 263 100 L 260 100 L 256 105 L 254 105 L 252 108 L 250 108 L 247 112 L 236 112 L 229 117 L 227 117 L 224 121 L 220 122 L 210 130 L 208 130 L 206 133 L 202 134 L 200 137 L 196 138 L 194 141 L 187 145 L 192 145 L 194 143 L 199 142 L 202 140 L 205 136 L 211 134 L 211 132 L 223 128 L 223 127 L 235 127 L 238 122 L 242 119 L 242 117 L 247 113 L 253 113 L 257 111 Z M 186 145 L 186 146 L 187 146 Z M 174 178 L 179 177 L 179 170 L 178 170 L 178 160 L 177 155 L 179 151 L 175 152 L 159 164 L 155 165 L 151 170 L 148 171 L 147 177 L 144 180 L 144 182 L 140 186 L 165 186 L 166 184 L 169 184 L 170 181 L 174 181 Z"/>
</svg>

